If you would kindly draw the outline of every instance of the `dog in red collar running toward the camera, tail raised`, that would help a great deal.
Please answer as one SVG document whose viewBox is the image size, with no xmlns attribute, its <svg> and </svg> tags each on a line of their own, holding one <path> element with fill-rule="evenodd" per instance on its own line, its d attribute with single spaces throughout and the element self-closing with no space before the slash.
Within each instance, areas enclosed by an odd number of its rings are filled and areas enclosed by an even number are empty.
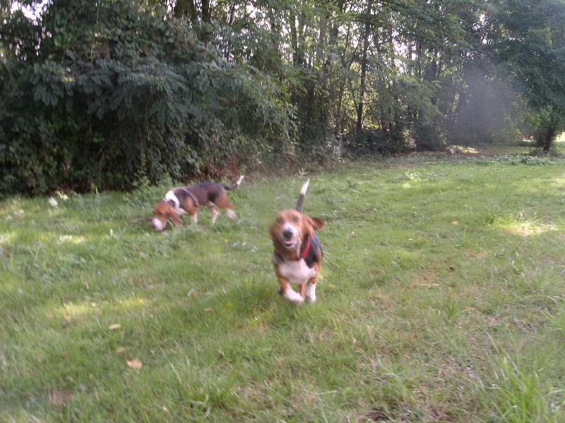
<svg viewBox="0 0 565 423">
<path fill-rule="evenodd" d="M 316 230 L 326 223 L 302 214 L 302 204 L 310 180 L 302 185 L 295 210 L 283 210 L 269 228 L 275 255 L 273 264 L 280 284 L 279 293 L 296 305 L 304 299 L 316 302 L 316 280 L 322 265 L 322 247 Z M 291 283 L 299 285 L 298 292 Z"/>
</svg>

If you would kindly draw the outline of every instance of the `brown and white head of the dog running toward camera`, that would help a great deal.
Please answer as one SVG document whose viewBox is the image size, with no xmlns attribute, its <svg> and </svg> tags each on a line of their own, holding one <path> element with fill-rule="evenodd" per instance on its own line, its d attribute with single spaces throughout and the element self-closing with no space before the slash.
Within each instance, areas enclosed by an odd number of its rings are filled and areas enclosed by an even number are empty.
<svg viewBox="0 0 565 423">
<path fill-rule="evenodd" d="M 269 227 L 269 235 L 273 240 L 275 251 L 283 257 L 298 254 L 302 241 L 307 236 L 314 236 L 326 223 L 319 217 L 309 217 L 296 210 L 283 210 L 275 217 Z"/>
</svg>

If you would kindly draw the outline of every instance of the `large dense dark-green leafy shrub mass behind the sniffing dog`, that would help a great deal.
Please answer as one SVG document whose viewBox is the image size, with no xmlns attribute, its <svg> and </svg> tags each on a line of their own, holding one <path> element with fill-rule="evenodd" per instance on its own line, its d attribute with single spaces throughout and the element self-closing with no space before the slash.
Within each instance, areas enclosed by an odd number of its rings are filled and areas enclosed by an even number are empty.
<svg viewBox="0 0 565 423">
<path fill-rule="evenodd" d="M 240 134 L 290 137 L 276 82 L 227 61 L 165 8 L 143 0 L 46 7 L 50 37 L 35 56 L 16 49 L 2 58 L 0 192 L 217 174 Z"/>
</svg>

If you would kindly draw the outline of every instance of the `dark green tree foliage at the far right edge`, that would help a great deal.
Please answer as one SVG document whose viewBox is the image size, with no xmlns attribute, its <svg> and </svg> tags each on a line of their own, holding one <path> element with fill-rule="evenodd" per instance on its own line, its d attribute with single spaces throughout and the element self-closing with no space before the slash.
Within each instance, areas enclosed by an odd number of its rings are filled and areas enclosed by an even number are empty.
<svg viewBox="0 0 565 423">
<path fill-rule="evenodd" d="M 565 1 L 496 3 L 492 51 L 536 112 L 536 139 L 548 151 L 565 128 Z"/>
</svg>

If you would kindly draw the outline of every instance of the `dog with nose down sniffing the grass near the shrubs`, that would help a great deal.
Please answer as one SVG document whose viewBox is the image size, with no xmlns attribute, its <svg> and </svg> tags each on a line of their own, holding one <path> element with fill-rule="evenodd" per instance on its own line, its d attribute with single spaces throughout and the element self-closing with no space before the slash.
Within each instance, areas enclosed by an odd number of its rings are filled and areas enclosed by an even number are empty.
<svg viewBox="0 0 565 423">
<path fill-rule="evenodd" d="M 212 223 L 215 223 L 220 216 L 218 208 L 224 209 L 230 219 L 236 219 L 234 205 L 227 198 L 226 190 L 231 191 L 239 187 L 243 178 L 244 176 L 239 176 L 232 187 L 222 183 L 203 182 L 188 187 L 173 188 L 153 209 L 153 228 L 155 231 L 161 231 L 167 226 L 169 219 L 175 225 L 180 225 L 182 220 L 179 216 L 184 214 L 190 214 L 191 225 L 194 225 L 198 220 L 198 209 L 204 206 L 212 212 Z"/>
</svg>

